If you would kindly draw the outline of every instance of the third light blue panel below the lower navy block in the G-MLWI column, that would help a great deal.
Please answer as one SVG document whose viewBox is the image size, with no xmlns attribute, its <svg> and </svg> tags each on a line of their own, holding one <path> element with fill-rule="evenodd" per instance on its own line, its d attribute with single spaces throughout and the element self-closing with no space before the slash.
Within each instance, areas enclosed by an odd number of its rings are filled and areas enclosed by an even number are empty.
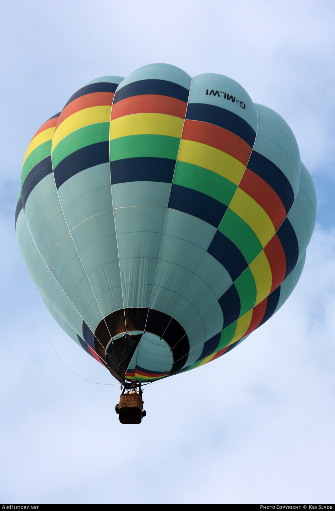
<svg viewBox="0 0 335 511">
<path fill-rule="evenodd" d="M 157 267 L 155 285 L 161 289 L 170 289 L 183 296 L 194 273 L 183 266 L 169 263 L 160 258 Z M 156 270 L 156 268 L 155 268 Z"/>
</svg>

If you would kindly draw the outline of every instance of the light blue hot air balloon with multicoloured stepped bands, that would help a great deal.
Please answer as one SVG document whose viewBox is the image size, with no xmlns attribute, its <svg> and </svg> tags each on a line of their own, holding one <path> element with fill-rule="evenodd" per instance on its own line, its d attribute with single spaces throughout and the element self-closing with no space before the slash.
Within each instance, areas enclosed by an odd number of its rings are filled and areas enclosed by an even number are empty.
<svg viewBox="0 0 335 511">
<path fill-rule="evenodd" d="M 280 115 L 226 76 L 150 64 L 87 83 L 39 128 L 15 227 L 50 314 L 136 393 L 285 303 L 316 210 Z"/>
</svg>

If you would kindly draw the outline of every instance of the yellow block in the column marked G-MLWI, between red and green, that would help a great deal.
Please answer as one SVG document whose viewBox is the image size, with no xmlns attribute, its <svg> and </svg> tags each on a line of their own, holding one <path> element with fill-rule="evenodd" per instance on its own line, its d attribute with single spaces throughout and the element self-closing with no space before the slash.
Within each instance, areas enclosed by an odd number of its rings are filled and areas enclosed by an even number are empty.
<svg viewBox="0 0 335 511">
<path fill-rule="evenodd" d="M 235 184 L 239 184 L 245 169 L 233 156 L 192 140 L 181 140 L 177 159 L 216 172 Z"/>
</svg>

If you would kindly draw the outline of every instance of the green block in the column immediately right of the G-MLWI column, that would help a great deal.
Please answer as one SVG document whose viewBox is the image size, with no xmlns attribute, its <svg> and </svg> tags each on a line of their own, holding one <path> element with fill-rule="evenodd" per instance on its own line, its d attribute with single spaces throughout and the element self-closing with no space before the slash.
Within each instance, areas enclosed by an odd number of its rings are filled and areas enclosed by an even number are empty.
<svg viewBox="0 0 335 511">
<path fill-rule="evenodd" d="M 248 264 L 262 252 L 263 247 L 254 231 L 229 208 L 221 220 L 219 230 L 241 250 Z"/>
</svg>

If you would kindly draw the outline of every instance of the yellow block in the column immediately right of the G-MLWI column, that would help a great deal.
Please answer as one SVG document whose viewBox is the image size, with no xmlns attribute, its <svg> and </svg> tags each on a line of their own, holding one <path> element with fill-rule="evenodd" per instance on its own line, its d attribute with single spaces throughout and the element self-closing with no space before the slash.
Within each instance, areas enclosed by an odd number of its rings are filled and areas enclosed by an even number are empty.
<svg viewBox="0 0 335 511">
<path fill-rule="evenodd" d="M 229 208 L 251 227 L 264 248 L 276 231 L 263 207 L 238 188 Z"/>
</svg>

